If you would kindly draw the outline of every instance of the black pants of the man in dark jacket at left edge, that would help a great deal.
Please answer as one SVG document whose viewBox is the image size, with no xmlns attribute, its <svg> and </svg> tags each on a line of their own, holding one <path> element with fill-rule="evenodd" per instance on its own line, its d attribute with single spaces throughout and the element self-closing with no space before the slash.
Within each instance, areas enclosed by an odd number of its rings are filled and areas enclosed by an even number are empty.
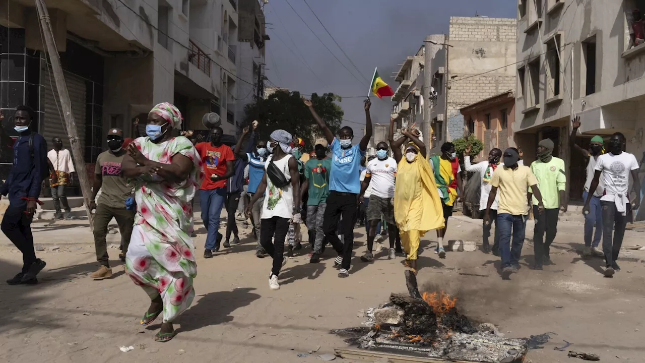
<svg viewBox="0 0 645 363">
<path fill-rule="evenodd" d="M 0 227 L 6 238 L 9 238 L 15 247 L 23 253 L 23 273 L 26 273 L 29 267 L 36 262 L 34 236 L 32 236 L 34 214 L 26 214 L 26 210 L 26 200 L 9 200 L 9 207 L 5 211 Z"/>
</svg>

